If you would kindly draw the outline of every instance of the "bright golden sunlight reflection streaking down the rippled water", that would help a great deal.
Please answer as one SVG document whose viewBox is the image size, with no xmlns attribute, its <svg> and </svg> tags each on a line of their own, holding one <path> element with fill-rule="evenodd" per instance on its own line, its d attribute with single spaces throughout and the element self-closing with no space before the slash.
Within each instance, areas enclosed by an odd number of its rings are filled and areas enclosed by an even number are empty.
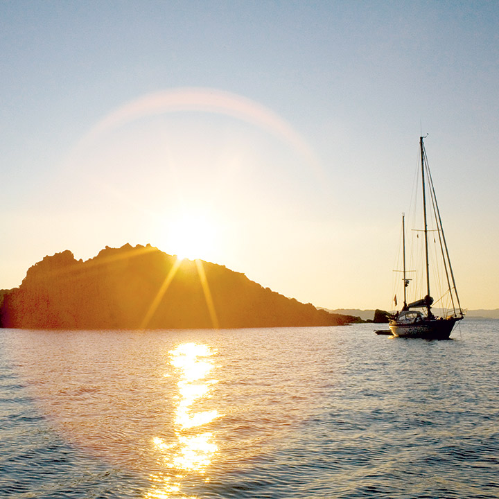
<svg viewBox="0 0 499 499">
<path fill-rule="evenodd" d="M 170 365 L 179 378 L 175 405 L 175 441 L 154 437 L 152 444 L 159 453 L 158 462 L 167 473 L 150 475 L 152 489 L 145 498 L 166 499 L 181 493 L 181 480 L 187 473 L 206 475 L 218 447 L 213 433 L 204 426 L 218 418 L 217 410 L 196 411 L 195 405 L 211 397 L 217 380 L 209 378 L 216 353 L 205 344 L 184 343 L 170 353 Z M 165 374 L 165 376 L 170 376 Z M 173 471 L 173 473 L 172 473 Z M 177 479 L 175 480 L 173 476 Z M 206 482 L 209 478 L 205 477 Z"/>
</svg>

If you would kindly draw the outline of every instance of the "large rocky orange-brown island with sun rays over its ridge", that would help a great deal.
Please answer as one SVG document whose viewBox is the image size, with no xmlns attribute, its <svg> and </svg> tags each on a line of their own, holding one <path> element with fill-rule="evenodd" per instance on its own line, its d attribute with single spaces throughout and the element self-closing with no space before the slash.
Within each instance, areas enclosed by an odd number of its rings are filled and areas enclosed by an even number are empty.
<svg viewBox="0 0 499 499">
<path fill-rule="evenodd" d="M 3 297 L 3 300 L 1 298 Z M 150 245 L 106 247 L 88 261 L 70 251 L 28 269 L 0 293 L 0 324 L 29 329 L 199 329 L 336 326 L 359 317 L 318 310 L 245 274 L 182 260 Z"/>
</svg>

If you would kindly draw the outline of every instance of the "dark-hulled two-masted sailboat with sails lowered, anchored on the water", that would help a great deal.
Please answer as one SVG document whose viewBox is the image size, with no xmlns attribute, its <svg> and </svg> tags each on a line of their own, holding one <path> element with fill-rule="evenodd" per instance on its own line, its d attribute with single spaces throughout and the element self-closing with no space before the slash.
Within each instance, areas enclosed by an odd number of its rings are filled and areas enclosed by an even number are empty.
<svg viewBox="0 0 499 499">
<path fill-rule="evenodd" d="M 456 322 L 459 322 L 464 317 L 464 311 L 459 303 L 457 288 L 455 286 L 454 273 L 450 265 L 444 228 L 441 225 L 440 211 L 435 196 L 430 168 L 428 166 L 428 157 L 424 147 L 423 139 L 419 138 L 419 148 L 421 153 L 421 181 L 422 181 L 422 198 L 423 198 L 423 234 L 424 234 L 424 256 L 426 271 L 423 272 L 426 277 L 426 295 L 407 303 L 407 289 L 412 279 L 408 278 L 411 271 L 405 268 L 405 217 L 402 217 L 402 234 L 403 234 L 403 306 L 399 312 L 394 313 L 389 317 L 389 329 L 394 336 L 401 338 L 424 338 L 426 340 L 448 340 Z M 428 202 L 427 193 L 429 193 L 430 202 Z M 430 205 L 428 210 L 427 202 Z M 434 299 L 430 295 L 430 257 L 428 252 L 429 233 L 428 229 L 428 211 L 435 218 L 435 229 L 437 236 L 434 236 L 435 243 L 438 241 L 439 257 L 441 259 L 441 268 L 444 278 L 442 281 L 446 283 L 446 292 L 444 293 L 449 301 L 450 308 L 447 310 L 444 317 L 437 317 L 433 313 L 432 306 Z M 432 230 L 433 232 L 433 230 Z M 421 296 L 421 295 L 420 295 Z M 438 301 L 440 301 L 439 298 Z"/>
</svg>

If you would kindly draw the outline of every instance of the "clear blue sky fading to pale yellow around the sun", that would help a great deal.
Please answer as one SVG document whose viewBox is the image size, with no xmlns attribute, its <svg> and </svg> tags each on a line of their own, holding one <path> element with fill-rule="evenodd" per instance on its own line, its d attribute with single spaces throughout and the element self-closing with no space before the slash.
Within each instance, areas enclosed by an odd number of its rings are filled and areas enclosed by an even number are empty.
<svg viewBox="0 0 499 499">
<path fill-rule="evenodd" d="M 393 306 L 419 137 L 464 308 L 499 308 L 499 3 L 3 1 L 0 288 L 125 243 Z"/>
</svg>

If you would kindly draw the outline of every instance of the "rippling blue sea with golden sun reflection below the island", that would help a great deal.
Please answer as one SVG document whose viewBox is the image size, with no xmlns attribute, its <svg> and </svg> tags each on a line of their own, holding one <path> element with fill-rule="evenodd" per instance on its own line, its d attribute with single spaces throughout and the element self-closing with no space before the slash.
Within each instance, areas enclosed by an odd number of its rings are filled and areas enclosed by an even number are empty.
<svg viewBox="0 0 499 499">
<path fill-rule="evenodd" d="M 499 321 L 0 329 L 0 496 L 498 498 Z"/>
</svg>

